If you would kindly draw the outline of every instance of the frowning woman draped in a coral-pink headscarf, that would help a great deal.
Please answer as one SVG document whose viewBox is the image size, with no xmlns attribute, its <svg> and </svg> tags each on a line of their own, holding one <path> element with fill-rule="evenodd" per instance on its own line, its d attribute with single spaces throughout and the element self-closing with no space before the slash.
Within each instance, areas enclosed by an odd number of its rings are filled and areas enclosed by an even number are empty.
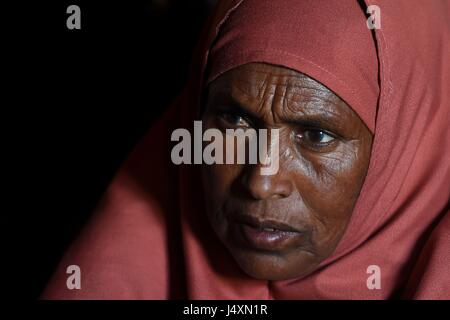
<svg viewBox="0 0 450 320">
<path fill-rule="evenodd" d="M 370 2 L 220 2 L 43 297 L 450 298 L 449 6 Z M 195 120 L 277 129 L 278 170 L 173 164 Z"/>
</svg>

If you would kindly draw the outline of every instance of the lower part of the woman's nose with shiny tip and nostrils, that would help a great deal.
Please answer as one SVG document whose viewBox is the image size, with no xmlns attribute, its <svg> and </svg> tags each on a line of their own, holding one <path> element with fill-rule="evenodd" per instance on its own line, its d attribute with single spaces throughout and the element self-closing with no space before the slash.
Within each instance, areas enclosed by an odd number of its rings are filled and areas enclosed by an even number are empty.
<svg viewBox="0 0 450 320">
<path fill-rule="evenodd" d="M 293 183 L 283 166 L 273 175 L 262 175 L 261 164 L 249 165 L 242 176 L 242 184 L 255 200 L 287 198 L 292 194 Z"/>
</svg>

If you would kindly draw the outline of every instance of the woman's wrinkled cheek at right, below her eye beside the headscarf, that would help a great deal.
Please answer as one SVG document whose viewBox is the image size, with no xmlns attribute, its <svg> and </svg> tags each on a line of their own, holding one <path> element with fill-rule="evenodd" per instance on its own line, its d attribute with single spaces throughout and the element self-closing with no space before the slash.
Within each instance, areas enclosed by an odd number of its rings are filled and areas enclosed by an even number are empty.
<svg viewBox="0 0 450 320">
<path fill-rule="evenodd" d="M 315 241 L 337 241 L 350 219 L 366 173 L 360 142 L 342 143 L 327 154 L 302 154 L 296 188 L 309 209 Z"/>
</svg>

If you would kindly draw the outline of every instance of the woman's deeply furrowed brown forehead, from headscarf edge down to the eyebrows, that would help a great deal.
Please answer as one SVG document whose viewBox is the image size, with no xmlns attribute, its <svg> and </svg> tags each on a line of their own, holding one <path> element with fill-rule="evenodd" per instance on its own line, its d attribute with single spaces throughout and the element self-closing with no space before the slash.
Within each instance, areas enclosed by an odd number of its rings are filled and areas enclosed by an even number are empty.
<svg viewBox="0 0 450 320">
<path fill-rule="evenodd" d="M 331 90 L 285 67 L 250 63 L 225 72 L 208 86 L 207 107 L 240 110 L 255 118 L 294 121 L 309 116 L 348 123 L 353 110 Z"/>
</svg>

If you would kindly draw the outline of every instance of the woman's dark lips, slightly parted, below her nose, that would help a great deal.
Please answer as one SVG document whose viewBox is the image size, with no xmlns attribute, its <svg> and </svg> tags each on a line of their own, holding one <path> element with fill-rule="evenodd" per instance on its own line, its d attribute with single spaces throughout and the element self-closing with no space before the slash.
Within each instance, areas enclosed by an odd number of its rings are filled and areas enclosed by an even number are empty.
<svg viewBox="0 0 450 320">
<path fill-rule="evenodd" d="M 305 240 L 301 230 L 280 221 L 250 215 L 236 216 L 231 229 L 238 240 L 257 250 L 283 251 L 298 246 Z"/>
</svg>

